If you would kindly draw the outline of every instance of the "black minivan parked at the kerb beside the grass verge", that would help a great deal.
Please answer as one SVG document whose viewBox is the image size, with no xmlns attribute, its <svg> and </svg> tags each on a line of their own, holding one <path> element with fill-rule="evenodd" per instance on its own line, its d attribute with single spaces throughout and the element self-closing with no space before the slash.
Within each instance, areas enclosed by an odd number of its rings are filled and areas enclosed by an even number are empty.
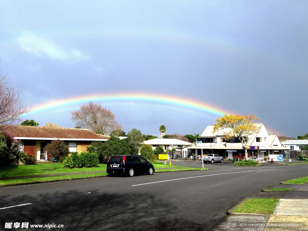
<svg viewBox="0 0 308 231">
<path fill-rule="evenodd" d="M 148 162 L 142 156 L 123 155 L 111 156 L 107 162 L 108 174 L 125 174 L 134 176 L 135 173 L 148 173 L 152 175 L 155 172 L 153 164 Z"/>
</svg>

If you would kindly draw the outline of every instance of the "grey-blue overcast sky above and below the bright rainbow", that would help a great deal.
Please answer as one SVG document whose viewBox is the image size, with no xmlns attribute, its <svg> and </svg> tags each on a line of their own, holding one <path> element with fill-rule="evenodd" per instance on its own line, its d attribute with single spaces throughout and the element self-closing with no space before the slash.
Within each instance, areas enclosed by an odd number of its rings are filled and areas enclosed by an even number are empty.
<svg viewBox="0 0 308 231">
<path fill-rule="evenodd" d="M 88 94 L 176 95 L 308 133 L 308 1 L 1 1 L 0 71 L 27 106 Z M 199 133 L 216 119 L 103 103 L 124 131 Z M 76 107 L 74 107 L 76 108 Z M 65 108 L 38 114 L 75 127 Z M 36 119 L 34 115 L 25 117 Z"/>
</svg>

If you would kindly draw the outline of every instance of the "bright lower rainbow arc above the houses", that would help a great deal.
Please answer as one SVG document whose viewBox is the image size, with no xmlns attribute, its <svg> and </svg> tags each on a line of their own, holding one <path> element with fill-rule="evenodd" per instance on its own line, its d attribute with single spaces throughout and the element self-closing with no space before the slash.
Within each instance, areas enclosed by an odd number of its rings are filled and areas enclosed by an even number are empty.
<svg viewBox="0 0 308 231">
<path fill-rule="evenodd" d="M 99 95 L 83 95 L 77 97 L 70 97 L 66 99 L 51 100 L 42 104 L 34 105 L 28 114 L 42 113 L 53 111 L 61 108 L 72 107 L 83 103 L 92 102 L 140 102 L 140 103 L 156 103 L 170 105 L 174 107 L 183 108 L 186 110 L 193 110 L 203 112 L 212 116 L 221 117 L 225 114 L 232 114 L 227 110 L 218 108 L 211 104 L 207 104 L 194 99 L 182 98 L 172 95 L 149 94 L 149 93 L 112 93 Z"/>
</svg>

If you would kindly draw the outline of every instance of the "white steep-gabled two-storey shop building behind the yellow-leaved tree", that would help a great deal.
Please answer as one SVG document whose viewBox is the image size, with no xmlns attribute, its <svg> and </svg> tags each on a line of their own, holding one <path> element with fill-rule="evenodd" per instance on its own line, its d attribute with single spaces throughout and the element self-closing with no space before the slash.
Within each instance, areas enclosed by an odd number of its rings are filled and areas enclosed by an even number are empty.
<svg viewBox="0 0 308 231">
<path fill-rule="evenodd" d="M 263 159 L 269 155 L 284 155 L 285 151 L 289 148 L 284 147 L 276 135 L 270 135 L 263 124 L 255 124 L 258 127 L 258 131 L 248 136 L 248 157 L 253 159 Z M 202 132 L 201 136 L 197 138 L 200 143 L 195 143 L 192 147 L 188 148 L 187 157 L 201 155 L 201 148 L 203 155 L 217 154 L 223 157 L 236 157 L 243 159 L 245 152 L 243 145 L 237 138 L 231 138 L 226 140 L 223 135 L 224 132 L 229 132 L 228 129 L 224 129 L 219 132 L 213 133 L 213 126 L 208 126 Z"/>
</svg>

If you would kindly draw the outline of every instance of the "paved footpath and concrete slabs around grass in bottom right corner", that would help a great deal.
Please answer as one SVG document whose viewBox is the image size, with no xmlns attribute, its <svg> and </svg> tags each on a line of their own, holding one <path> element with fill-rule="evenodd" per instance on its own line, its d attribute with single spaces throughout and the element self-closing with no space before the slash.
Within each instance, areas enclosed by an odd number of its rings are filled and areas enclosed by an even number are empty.
<svg viewBox="0 0 308 231">
<path fill-rule="evenodd" d="M 307 231 L 308 184 L 279 184 L 273 188 L 292 188 L 292 190 L 265 191 L 253 196 L 253 198 L 279 198 L 280 200 L 274 209 L 273 215 L 229 215 L 221 220 L 220 224 L 212 230 Z M 292 226 L 294 224 L 297 226 Z M 271 225 L 280 225 L 280 227 L 273 227 Z"/>
</svg>

